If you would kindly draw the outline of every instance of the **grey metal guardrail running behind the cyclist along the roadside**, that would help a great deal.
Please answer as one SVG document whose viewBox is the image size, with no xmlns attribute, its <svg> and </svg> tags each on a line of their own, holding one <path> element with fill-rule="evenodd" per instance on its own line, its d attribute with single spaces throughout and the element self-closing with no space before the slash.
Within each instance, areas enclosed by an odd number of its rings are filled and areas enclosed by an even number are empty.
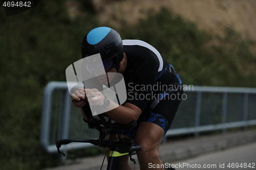
<svg viewBox="0 0 256 170">
<path fill-rule="evenodd" d="M 172 127 L 165 137 L 256 125 L 256 88 L 187 86 Z M 45 87 L 41 118 L 41 147 L 56 153 L 64 138 L 97 138 L 98 131 L 83 122 L 80 109 L 71 104 L 66 82 Z M 92 147 L 90 143 L 63 145 L 65 151 Z"/>
</svg>

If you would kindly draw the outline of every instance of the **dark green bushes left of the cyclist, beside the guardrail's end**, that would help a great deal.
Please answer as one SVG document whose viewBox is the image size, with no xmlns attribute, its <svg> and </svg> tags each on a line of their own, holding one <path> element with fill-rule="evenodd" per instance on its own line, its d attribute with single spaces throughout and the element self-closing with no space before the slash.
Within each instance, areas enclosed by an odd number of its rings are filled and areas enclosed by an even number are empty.
<svg viewBox="0 0 256 170">
<path fill-rule="evenodd" d="M 81 58 L 84 34 L 99 25 L 92 17 L 71 22 L 62 1 L 10 17 L 0 12 L 1 168 L 55 166 L 59 155 L 39 145 L 42 92 L 48 82 L 66 80 L 67 66 Z"/>
</svg>

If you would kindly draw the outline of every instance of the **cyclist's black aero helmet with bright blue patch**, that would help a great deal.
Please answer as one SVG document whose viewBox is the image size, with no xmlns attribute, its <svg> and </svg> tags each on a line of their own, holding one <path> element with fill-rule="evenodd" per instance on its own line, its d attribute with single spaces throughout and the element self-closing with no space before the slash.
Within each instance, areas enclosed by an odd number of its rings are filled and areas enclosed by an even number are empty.
<svg viewBox="0 0 256 170">
<path fill-rule="evenodd" d="M 108 27 L 98 27 L 84 36 L 81 52 L 82 58 L 100 53 L 101 60 L 110 59 L 118 71 L 119 63 L 123 59 L 122 39 L 115 30 Z"/>
</svg>

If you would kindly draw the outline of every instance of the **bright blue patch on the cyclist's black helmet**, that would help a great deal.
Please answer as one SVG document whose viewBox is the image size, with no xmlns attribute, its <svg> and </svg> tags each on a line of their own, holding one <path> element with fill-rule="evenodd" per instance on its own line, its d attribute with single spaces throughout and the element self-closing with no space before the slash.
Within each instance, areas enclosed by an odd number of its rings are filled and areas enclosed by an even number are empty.
<svg viewBox="0 0 256 170">
<path fill-rule="evenodd" d="M 87 35 L 87 42 L 91 45 L 99 43 L 106 35 L 109 34 L 111 28 L 98 27 L 91 30 Z"/>
</svg>

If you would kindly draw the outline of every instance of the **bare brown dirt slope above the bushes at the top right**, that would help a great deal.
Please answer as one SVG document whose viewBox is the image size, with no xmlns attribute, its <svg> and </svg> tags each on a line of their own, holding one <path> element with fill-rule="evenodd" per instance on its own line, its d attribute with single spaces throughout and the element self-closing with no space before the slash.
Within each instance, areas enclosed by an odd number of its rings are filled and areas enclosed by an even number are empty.
<svg viewBox="0 0 256 170">
<path fill-rule="evenodd" d="M 103 22 L 118 26 L 122 19 L 134 24 L 145 17 L 147 9 L 167 7 L 198 27 L 222 34 L 224 26 L 233 26 L 246 37 L 256 40 L 255 0 L 92 0 Z"/>
</svg>

